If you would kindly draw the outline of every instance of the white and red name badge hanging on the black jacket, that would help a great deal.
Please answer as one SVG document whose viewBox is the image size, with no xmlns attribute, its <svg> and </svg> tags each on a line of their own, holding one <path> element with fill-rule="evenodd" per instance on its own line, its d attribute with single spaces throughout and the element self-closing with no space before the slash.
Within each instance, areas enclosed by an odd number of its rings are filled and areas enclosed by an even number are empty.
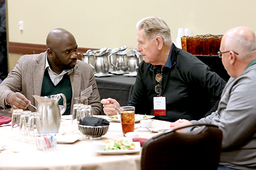
<svg viewBox="0 0 256 170">
<path fill-rule="evenodd" d="M 154 116 L 166 116 L 165 97 L 154 97 Z"/>
</svg>

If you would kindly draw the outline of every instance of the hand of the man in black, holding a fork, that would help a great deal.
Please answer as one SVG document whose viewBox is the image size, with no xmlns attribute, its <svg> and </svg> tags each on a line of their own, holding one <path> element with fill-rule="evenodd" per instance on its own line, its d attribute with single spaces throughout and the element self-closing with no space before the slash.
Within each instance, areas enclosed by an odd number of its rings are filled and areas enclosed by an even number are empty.
<svg viewBox="0 0 256 170">
<path fill-rule="evenodd" d="M 100 102 L 103 104 L 103 111 L 106 115 L 112 116 L 116 115 L 119 112 L 119 110 L 116 107 L 120 108 L 120 105 L 115 99 L 102 99 Z M 110 103 L 115 105 L 116 107 L 110 105 Z"/>
</svg>

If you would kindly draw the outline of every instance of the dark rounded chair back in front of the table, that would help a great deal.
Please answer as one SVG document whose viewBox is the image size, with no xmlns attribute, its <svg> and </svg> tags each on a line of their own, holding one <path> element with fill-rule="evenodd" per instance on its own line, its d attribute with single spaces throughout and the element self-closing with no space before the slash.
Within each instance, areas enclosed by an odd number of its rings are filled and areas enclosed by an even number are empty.
<svg viewBox="0 0 256 170">
<path fill-rule="evenodd" d="M 190 133 L 176 130 L 202 126 Z M 141 169 L 217 169 L 222 131 L 215 125 L 199 124 L 168 130 L 143 144 Z"/>
</svg>

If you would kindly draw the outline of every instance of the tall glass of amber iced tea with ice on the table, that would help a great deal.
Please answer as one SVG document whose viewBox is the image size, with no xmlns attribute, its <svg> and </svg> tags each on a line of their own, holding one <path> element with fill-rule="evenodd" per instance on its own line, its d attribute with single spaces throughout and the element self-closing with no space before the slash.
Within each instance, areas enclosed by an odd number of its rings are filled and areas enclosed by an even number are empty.
<svg viewBox="0 0 256 170">
<path fill-rule="evenodd" d="M 135 107 L 123 106 L 120 108 L 123 136 L 127 132 L 134 132 Z"/>
</svg>

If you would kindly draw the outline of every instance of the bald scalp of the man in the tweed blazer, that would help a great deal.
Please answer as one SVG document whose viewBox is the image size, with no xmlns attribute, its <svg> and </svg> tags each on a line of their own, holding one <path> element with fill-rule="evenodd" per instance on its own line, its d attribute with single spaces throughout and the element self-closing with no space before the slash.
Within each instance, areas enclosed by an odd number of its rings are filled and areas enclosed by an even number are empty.
<svg viewBox="0 0 256 170">
<path fill-rule="evenodd" d="M 46 38 L 47 48 L 56 50 L 63 42 L 75 41 L 75 37 L 65 29 L 54 29 L 52 30 Z"/>
</svg>

